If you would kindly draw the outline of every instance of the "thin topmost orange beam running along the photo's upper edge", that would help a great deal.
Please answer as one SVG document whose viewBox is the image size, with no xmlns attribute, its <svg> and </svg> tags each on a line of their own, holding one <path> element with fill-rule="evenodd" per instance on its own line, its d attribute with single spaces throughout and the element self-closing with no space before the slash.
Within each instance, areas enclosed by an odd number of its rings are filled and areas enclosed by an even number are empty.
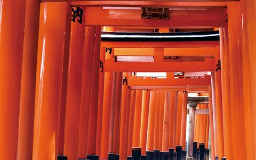
<svg viewBox="0 0 256 160">
<path fill-rule="evenodd" d="M 42 0 L 51 1 L 51 0 Z M 171 2 L 171 1 L 72 1 L 72 6 L 134 6 L 141 7 L 226 7 L 227 2 Z"/>
</svg>

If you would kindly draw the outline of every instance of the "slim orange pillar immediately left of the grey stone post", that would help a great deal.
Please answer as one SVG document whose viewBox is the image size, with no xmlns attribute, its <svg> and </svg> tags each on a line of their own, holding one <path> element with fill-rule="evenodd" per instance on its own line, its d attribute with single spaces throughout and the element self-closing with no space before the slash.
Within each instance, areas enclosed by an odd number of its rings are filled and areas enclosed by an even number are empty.
<svg viewBox="0 0 256 160">
<path fill-rule="evenodd" d="M 186 148 L 186 129 L 187 129 L 187 110 L 188 110 L 188 93 L 183 91 L 182 93 L 182 119 L 181 119 L 181 135 L 180 144 L 182 149 Z"/>
</svg>

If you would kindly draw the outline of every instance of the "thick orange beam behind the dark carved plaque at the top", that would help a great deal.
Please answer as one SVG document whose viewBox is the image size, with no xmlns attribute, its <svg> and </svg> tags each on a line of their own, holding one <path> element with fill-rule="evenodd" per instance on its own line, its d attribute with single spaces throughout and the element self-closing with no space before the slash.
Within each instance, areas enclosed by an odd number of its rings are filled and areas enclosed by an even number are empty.
<svg viewBox="0 0 256 160">
<path fill-rule="evenodd" d="M 86 26 L 220 27 L 226 21 L 223 9 L 172 10 L 170 19 L 164 21 L 141 19 L 141 10 L 104 10 L 102 7 L 86 7 L 84 15 Z"/>
</svg>

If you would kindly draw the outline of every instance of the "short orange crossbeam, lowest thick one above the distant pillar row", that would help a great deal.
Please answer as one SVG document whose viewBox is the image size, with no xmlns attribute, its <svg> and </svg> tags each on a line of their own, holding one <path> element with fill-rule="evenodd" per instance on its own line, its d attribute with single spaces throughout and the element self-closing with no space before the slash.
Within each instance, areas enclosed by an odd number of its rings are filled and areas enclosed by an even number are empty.
<svg viewBox="0 0 256 160">
<path fill-rule="evenodd" d="M 130 86 L 184 86 L 184 85 L 211 85 L 211 76 L 204 78 L 174 78 L 174 74 L 167 74 L 167 78 L 141 79 L 137 76 L 129 77 Z"/>
</svg>

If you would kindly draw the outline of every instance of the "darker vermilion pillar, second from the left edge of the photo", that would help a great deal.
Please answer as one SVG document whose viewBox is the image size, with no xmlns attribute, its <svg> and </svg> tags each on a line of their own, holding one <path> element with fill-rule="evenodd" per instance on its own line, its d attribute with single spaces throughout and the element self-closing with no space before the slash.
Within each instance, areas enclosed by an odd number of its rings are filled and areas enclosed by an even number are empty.
<svg viewBox="0 0 256 160">
<path fill-rule="evenodd" d="M 32 159 L 33 154 L 39 4 L 39 1 L 26 1 L 17 153 L 21 160 Z"/>
</svg>

